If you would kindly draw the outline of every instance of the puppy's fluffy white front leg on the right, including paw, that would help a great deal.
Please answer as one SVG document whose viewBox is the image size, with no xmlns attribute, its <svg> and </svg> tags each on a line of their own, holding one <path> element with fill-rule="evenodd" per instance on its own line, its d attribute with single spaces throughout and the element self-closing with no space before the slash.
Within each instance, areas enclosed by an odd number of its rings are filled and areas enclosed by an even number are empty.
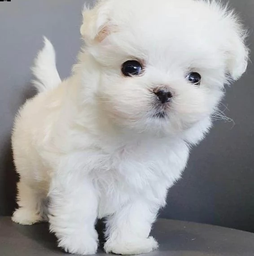
<svg viewBox="0 0 254 256">
<path fill-rule="evenodd" d="M 136 255 L 158 248 L 158 243 L 149 236 L 157 212 L 158 206 L 136 200 L 109 216 L 106 221 L 105 252 Z"/>
</svg>

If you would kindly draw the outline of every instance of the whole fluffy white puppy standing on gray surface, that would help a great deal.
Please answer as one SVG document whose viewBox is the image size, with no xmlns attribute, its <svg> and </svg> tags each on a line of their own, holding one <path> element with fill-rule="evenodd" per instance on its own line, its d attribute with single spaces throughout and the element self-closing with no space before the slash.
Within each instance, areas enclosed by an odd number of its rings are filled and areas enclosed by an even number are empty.
<svg viewBox="0 0 254 256">
<path fill-rule="evenodd" d="M 150 252 L 168 188 L 211 127 L 224 84 L 245 72 L 245 31 L 215 1 L 101 0 L 84 10 L 81 34 L 69 79 L 48 40 L 35 61 L 39 94 L 13 130 L 13 221 L 48 218 L 59 247 L 86 255 L 106 217 L 106 252 Z"/>
</svg>

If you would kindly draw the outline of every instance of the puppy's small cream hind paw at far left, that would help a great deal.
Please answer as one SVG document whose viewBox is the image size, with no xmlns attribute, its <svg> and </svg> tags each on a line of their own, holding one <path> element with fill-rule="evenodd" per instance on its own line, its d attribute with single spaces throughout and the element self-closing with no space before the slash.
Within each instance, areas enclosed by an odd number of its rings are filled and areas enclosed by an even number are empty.
<svg viewBox="0 0 254 256">
<path fill-rule="evenodd" d="M 32 225 L 43 221 L 43 218 L 37 212 L 21 207 L 13 213 L 12 221 L 21 225 Z"/>
</svg>

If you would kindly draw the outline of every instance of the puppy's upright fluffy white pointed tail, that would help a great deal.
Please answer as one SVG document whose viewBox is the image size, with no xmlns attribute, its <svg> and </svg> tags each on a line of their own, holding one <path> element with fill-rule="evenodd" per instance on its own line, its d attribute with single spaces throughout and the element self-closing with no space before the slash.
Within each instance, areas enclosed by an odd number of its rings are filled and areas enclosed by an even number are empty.
<svg viewBox="0 0 254 256">
<path fill-rule="evenodd" d="M 46 37 L 44 37 L 44 48 L 35 58 L 32 72 L 36 78 L 33 83 L 39 93 L 53 89 L 61 83 L 56 66 L 56 53 Z"/>
</svg>

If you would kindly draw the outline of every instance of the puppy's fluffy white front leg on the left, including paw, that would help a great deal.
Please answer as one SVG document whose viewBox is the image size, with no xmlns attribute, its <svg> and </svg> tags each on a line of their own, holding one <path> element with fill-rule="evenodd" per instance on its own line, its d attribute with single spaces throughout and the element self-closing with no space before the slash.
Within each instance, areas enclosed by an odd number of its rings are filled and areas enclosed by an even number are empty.
<svg viewBox="0 0 254 256">
<path fill-rule="evenodd" d="M 66 252 L 91 255 L 97 251 L 95 230 L 98 199 L 92 181 L 77 172 L 57 174 L 49 192 L 50 230 Z"/>
</svg>

